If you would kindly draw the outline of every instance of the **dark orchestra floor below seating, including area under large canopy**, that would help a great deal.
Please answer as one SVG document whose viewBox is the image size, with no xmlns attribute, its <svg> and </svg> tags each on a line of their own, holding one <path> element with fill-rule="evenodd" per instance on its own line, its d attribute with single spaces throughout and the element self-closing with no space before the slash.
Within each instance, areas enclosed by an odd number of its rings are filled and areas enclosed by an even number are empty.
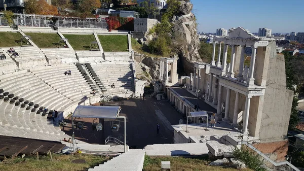
<svg viewBox="0 0 304 171">
<path fill-rule="evenodd" d="M 143 148 L 152 144 L 173 143 L 173 127 L 179 124 L 183 115 L 178 113 L 167 100 L 158 101 L 154 97 L 146 95 L 145 100 L 131 98 L 129 100 L 106 102 L 104 106 L 120 106 L 120 115 L 126 116 L 126 142 L 131 148 Z M 75 139 L 92 143 L 104 144 L 109 133 L 115 138 L 123 140 L 124 124 L 118 132 L 111 132 L 110 125 L 104 123 L 102 131 L 92 130 L 92 118 L 80 118 L 85 122 L 85 129 L 75 129 Z M 98 122 L 98 120 L 95 120 Z M 117 122 L 117 121 L 115 121 Z M 103 121 L 101 121 L 103 123 Z M 160 124 L 160 134 L 157 134 L 157 123 Z M 71 135 L 71 121 L 64 127 L 64 132 Z"/>
</svg>

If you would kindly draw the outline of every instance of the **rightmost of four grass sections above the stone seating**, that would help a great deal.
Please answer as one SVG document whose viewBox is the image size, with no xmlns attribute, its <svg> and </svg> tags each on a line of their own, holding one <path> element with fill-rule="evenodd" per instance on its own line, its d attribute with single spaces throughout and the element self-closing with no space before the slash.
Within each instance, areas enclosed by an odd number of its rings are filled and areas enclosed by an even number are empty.
<svg viewBox="0 0 304 171">
<path fill-rule="evenodd" d="M 104 52 L 128 52 L 128 36 L 98 35 Z"/>
</svg>

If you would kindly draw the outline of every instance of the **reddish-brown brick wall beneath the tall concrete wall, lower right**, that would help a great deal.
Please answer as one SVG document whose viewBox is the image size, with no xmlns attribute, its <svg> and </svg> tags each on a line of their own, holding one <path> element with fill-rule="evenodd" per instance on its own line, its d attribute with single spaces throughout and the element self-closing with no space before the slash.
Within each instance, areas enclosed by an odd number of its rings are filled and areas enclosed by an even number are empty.
<svg viewBox="0 0 304 171">
<path fill-rule="evenodd" d="M 287 140 L 273 143 L 253 144 L 252 146 L 277 162 L 284 161 L 288 151 Z"/>
</svg>

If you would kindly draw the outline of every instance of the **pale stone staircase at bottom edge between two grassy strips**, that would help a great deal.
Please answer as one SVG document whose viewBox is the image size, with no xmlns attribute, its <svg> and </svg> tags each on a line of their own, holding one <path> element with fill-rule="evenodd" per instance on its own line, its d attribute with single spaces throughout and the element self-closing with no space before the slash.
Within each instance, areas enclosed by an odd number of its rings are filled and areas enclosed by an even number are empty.
<svg viewBox="0 0 304 171">
<path fill-rule="evenodd" d="M 89 168 L 89 171 L 141 171 L 143 168 L 144 154 L 144 150 L 131 149 L 122 155 L 119 155 L 103 164 L 100 164 L 99 166 Z"/>
</svg>

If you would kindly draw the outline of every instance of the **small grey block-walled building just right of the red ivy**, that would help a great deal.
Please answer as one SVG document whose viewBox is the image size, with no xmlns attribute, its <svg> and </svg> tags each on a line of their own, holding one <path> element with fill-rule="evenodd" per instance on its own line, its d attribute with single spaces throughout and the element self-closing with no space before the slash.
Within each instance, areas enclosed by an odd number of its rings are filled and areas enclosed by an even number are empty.
<svg viewBox="0 0 304 171">
<path fill-rule="evenodd" d="M 156 19 L 150 18 L 134 18 L 134 31 L 149 31 L 150 28 L 154 27 L 158 23 Z"/>
</svg>

